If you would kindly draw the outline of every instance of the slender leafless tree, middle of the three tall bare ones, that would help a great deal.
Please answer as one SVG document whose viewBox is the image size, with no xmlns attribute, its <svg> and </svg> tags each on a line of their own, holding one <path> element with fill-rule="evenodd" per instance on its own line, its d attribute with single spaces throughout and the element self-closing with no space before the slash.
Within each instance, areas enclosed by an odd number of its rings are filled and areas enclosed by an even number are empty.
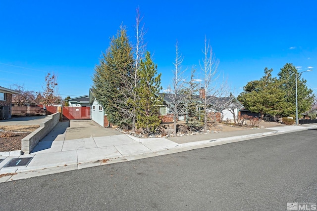
<svg viewBox="0 0 317 211">
<path fill-rule="evenodd" d="M 173 122 L 174 122 L 174 131 L 173 134 L 177 133 L 177 122 L 178 118 L 185 114 L 185 105 L 184 101 L 186 99 L 186 95 L 184 93 L 184 85 L 185 79 L 183 78 L 183 74 L 185 71 L 182 70 L 181 64 L 183 62 L 182 56 L 178 52 L 178 42 L 175 44 L 176 48 L 176 57 L 173 70 L 173 79 L 172 85 L 169 86 L 169 94 L 167 98 L 169 98 L 170 105 L 169 108 L 173 113 Z"/>
</svg>

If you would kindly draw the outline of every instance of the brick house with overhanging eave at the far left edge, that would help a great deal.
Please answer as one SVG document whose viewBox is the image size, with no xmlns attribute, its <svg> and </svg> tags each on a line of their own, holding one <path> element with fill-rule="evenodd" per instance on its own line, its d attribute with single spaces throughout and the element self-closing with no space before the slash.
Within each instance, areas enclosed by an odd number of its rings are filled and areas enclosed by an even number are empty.
<svg viewBox="0 0 317 211">
<path fill-rule="evenodd" d="M 11 118 L 12 94 L 21 93 L 0 86 L 0 120 Z"/>
</svg>

